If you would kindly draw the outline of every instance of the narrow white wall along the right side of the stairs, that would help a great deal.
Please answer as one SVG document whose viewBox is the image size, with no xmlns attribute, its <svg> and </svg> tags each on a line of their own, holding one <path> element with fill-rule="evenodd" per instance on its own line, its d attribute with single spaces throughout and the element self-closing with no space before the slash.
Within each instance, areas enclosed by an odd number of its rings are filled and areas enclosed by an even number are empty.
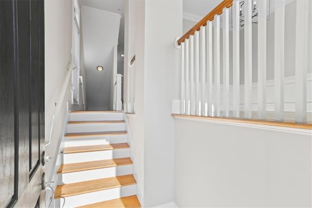
<svg viewBox="0 0 312 208">
<path fill-rule="evenodd" d="M 124 62 L 124 102 L 130 96 L 127 89 L 128 62 L 136 55 L 136 114 L 127 114 L 133 151 L 134 176 L 137 180 L 137 196 L 144 204 L 144 37 L 145 1 L 125 1 L 125 62 Z"/>
</svg>

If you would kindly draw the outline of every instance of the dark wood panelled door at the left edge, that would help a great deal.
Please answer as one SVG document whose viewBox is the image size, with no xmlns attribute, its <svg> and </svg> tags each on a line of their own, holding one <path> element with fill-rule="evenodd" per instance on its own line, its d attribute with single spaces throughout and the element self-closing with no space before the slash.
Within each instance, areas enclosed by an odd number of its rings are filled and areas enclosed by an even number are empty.
<svg viewBox="0 0 312 208">
<path fill-rule="evenodd" d="M 44 1 L 0 0 L 0 207 L 44 207 L 43 150 Z"/>
</svg>

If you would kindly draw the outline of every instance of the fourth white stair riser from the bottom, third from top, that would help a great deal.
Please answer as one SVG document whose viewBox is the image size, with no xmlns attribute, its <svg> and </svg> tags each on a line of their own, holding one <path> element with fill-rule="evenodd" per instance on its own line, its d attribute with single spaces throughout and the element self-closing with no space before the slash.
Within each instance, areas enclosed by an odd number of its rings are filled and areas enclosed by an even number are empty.
<svg viewBox="0 0 312 208">
<path fill-rule="evenodd" d="M 65 147 L 67 146 L 88 146 L 88 145 L 108 145 L 117 143 L 126 143 L 127 134 L 65 138 Z"/>
</svg>

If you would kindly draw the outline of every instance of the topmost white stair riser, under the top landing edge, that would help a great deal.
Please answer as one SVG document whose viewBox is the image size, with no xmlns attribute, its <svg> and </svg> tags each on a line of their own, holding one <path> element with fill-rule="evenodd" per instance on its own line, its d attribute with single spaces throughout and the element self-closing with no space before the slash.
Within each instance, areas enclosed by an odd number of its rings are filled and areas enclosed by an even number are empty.
<svg viewBox="0 0 312 208">
<path fill-rule="evenodd" d="M 71 121 L 120 121 L 122 113 L 71 113 Z"/>
</svg>

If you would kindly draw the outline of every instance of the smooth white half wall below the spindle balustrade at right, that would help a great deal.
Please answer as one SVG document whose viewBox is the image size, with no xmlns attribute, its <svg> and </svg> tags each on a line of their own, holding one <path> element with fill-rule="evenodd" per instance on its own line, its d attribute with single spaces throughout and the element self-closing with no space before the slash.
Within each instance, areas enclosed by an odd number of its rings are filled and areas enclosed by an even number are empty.
<svg viewBox="0 0 312 208">
<path fill-rule="evenodd" d="M 311 133 L 175 123 L 179 207 L 311 207 Z"/>
</svg>

